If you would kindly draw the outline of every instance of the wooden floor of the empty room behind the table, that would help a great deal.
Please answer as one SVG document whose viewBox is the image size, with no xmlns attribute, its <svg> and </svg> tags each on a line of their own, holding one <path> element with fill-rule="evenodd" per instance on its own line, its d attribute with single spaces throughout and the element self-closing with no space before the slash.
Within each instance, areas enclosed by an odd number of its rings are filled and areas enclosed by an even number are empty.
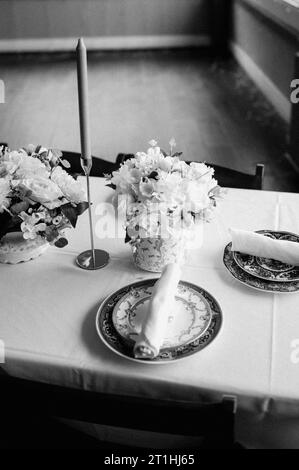
<svg viewBox="0 0 299 470">
<path fill-rule="evenodd" d="M 74 58 L 2 57 L 0 78 L 0 141 L 79 150 Z M 167 147 L 174 136 L 186 160 L 248 172 L 265 163 L 265 189 L 299 191 L 284 158 L 285 125 L 233 60 L 194 51 L 93 54 L 89 83 L 94 155 L 114 160 L 152 138 Z"/>
</svg>

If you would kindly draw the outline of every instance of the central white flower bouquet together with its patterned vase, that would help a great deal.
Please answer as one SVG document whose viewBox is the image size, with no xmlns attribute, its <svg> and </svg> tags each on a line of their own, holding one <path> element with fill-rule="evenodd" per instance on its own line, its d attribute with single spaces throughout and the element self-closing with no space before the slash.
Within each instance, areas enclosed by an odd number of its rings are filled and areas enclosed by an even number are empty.
<svg viewBox="0 0 299 470">
<path fill-rule="evenodd" d="M 183 262 L 186 240 L 196 225 L 209 221 L 220 187 L 214 169 L 204 163 L 190 164 L 175 152 L 150 142 L 108 176 L 116 199 L 126 203 L 126 241 L 133 248 L 135 264 L 160 272 L 171 262 Z"/>
</svg>

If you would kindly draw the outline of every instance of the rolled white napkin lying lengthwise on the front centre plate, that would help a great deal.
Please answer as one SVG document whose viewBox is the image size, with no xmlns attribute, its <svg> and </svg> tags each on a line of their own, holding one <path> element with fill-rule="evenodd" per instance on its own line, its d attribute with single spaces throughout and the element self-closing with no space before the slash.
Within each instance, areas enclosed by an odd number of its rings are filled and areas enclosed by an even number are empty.
<svg viewBox="0 0 299 470">
<path fill-rule="evenodd" d="M 152 359 L 159 354 L 165 338 L 168 316 L 174 307 L 180 276 L 179 264 L 172 263 L 165 266 L 160 279 L 156 282 L 141 333 L 135 343 L 136 358 Z"/>
</svg>

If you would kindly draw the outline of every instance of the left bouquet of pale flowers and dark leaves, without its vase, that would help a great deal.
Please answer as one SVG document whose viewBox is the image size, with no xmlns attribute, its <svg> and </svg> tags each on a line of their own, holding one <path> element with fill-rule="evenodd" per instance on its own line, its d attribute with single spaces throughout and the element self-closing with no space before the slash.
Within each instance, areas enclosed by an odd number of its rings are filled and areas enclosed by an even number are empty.
<svg viewBox="0 0 299 470">
<path fill-rule="evenodd" d="M 0 147 L 0 240 L 21 231 L 24 239 L 68 243 L 64 230 L 88 208 L 85 190 L 63 168 L 69 166 L 58 150 Z"/>
</svg>

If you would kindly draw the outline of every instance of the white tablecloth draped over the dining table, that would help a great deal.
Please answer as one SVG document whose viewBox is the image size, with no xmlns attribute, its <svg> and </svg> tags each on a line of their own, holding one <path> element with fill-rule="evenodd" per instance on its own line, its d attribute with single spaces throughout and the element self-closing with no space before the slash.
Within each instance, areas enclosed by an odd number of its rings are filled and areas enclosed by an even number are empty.
<svg viewBox="0 0 299 470">
<path fill-rule="evenodd" d="M 96 247 L 111 257 L 105 269 L 87 272 L 75 265 L 76 255 L 89 247 L 87 213 L 64 249 L 51 247 L 34 261 L 0 265 L 3 369 L 21 378 L 136 396 L 197 400 L 236 394 L 241 438 L 244 432 L 253 445 L 275 446 L 275 439 L 283 445 L 285 432 L 266 441 L 267 430 L 279 420 L 281 430 L 288 426 L 286 445 L 299 447 L 299 293 L 248 288 L 222 262 L 229 227 L 299 233 L 299 194 L 228 190 L 182 275 L 216 297 L 223 310 L 221 331 L 198 354 L 155 366 L 120 358 L 95 330 L 95 315 L 106 296 L 128 283 L 157 277 L 136 269 L 123 234 L 115 237 L 113 214 L 108 205 L 103 213 L 99 204 L 110 202 L 112 194 L 104 180 L 92 179 L 96 231 L 105 235 L 96 239 Z"/>
</svg>

